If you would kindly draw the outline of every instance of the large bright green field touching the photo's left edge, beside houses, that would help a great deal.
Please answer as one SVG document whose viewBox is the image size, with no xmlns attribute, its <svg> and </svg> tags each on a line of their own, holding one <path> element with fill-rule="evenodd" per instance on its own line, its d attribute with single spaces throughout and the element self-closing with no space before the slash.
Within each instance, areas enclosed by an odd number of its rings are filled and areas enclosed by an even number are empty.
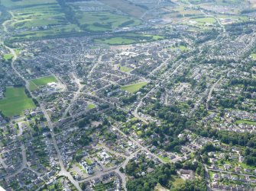
<svg viewBox="0 0 256 191">
<path fill-rule="evenodd" d="M 35 107 L 32 99 L 24 92 L 24 88 L 7 88 L 4 99 L 0 100 L 0 110 L 5 116 L 22 115 L 23 110 Z"/>
</svg>

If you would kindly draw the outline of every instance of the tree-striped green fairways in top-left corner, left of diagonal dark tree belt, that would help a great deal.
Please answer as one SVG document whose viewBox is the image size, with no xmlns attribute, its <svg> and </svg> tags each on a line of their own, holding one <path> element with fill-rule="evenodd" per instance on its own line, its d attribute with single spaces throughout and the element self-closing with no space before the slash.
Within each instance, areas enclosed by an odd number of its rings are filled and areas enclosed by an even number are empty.
<svg viewBox="0 0 256 191">
<path fill-rule="evenodd" d="M 2 0 L 11 20 L 8 29 L 13 33 L 10 41 L 36 40 L 50 37 L 70 37 L 80 28 L 68 21 L 56 0 Z"/>
</svg>

